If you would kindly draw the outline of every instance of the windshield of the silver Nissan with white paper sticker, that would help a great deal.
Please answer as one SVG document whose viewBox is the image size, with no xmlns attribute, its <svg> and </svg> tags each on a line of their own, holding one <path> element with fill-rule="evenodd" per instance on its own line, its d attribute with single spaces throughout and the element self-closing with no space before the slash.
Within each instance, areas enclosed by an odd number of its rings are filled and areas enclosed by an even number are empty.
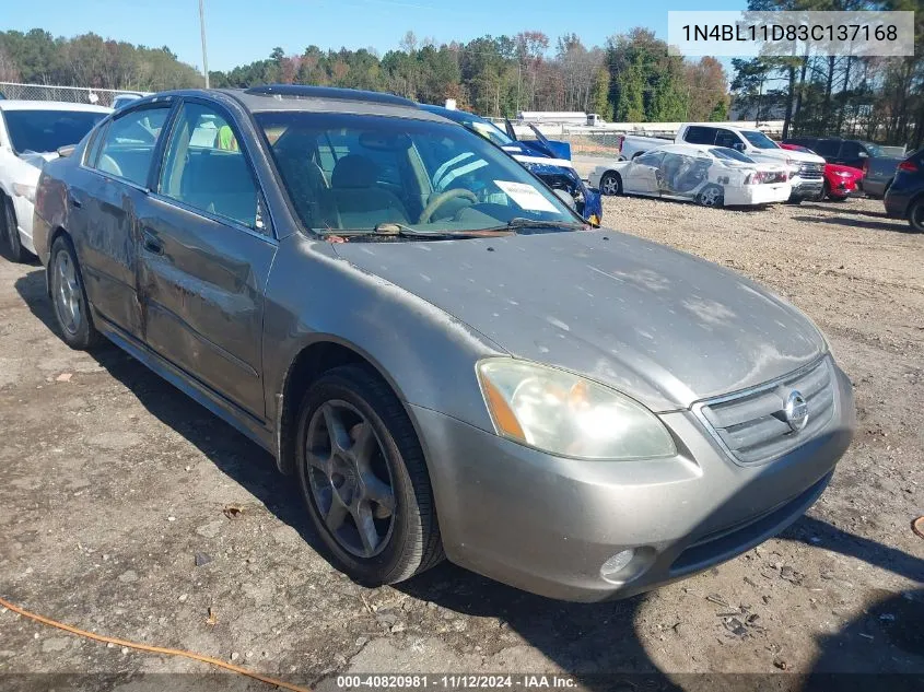
<svg viewBox="0 0 924 692">
<path fill-rule="evenodd" d="M 315 233 L 583 227 L 523 166 L 455 124 L 307 112 L 255 118 L 295 212 Z"/>
</svg>

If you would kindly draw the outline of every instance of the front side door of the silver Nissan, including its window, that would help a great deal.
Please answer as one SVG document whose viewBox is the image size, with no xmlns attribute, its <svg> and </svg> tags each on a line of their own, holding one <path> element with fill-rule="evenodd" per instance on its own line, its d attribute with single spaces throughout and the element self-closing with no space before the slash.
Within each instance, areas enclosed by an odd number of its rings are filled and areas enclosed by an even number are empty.
<svg viewBox="0 0 924 692">
<path fill-rule="evenodd" d="M 277 242 L 239 130 L 223 107 L 186 99 L 141 226 L 145 341 L 257 419 L 264 290 Z"/>
</svg>

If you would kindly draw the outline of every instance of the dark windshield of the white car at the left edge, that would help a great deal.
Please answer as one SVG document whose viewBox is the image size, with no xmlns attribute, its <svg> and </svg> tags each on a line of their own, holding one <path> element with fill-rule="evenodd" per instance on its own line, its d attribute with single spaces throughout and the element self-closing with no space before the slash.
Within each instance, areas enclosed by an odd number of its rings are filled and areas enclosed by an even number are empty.
<svg viewBox="0 0 924 692">
<path fill-rule="evenodd" d="M 10 142 L 17 154 L 46 153 L 77 144 L 106 117 L 92 110 L 3 110 Z"/>
</svg>

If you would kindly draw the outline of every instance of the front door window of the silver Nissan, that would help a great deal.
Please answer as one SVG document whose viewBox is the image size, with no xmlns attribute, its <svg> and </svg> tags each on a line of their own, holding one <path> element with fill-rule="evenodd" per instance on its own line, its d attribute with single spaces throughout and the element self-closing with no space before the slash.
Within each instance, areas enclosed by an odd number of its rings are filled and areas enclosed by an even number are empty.
<svg viewBox="0 0 924 692">
<path fill-rule="evenodd" d="M 257 226 L 257 185 L 237 131 L 210 106 L 185 103 L 180 108 L 157 191 L 192 209 Z"/>
</svg>

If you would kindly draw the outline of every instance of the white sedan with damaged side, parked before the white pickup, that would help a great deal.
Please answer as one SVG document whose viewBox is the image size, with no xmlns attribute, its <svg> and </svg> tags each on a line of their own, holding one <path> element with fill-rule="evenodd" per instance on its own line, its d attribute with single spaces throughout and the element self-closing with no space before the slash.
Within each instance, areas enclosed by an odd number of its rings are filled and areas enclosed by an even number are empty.
<svg viewBox="0 0 924 692">
<path fill-rule="evenodd" d="M 667 144 L 632 161 L 603 164 L 590 173 L 589 184 L 604 195 L 664 197 L 704 207 L 784 202 L 792 192 L 785 165 L 698 144 Z"/>
</svg>

